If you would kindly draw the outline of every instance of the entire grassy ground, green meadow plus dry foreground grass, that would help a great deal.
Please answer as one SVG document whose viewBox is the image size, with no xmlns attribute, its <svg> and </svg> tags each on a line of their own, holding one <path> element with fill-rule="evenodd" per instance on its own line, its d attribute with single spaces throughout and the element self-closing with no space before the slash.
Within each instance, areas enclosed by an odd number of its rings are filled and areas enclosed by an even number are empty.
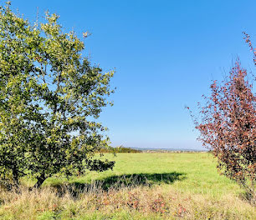
<svg viewBox="0 0 256 220">
<path fill-rule="evenodd" d="M 0 219 L 255 219 L 209 153 L 119 153 L 113 171 L 0 193 Z M 32 184 L 24 180 L 24 185 Z"/>
</svg>

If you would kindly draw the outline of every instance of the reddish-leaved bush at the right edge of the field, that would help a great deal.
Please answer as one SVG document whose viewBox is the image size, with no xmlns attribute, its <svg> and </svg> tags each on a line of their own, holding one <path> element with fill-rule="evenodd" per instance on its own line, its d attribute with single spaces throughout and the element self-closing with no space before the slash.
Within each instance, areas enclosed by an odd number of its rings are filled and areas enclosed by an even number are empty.
<svg viewBox="0 0 256 220">
<path fill-rule="evenodd" d="M 255 62 L 255 59 L 254 59 Z M 202 144 L 218 158 L 218 169 L 243 186 L 255 201 L 256 97 L 247 71 L 236 62 L 227 81 L 211 85 L 210 97 L 195 120 Z"/>
</svg>

